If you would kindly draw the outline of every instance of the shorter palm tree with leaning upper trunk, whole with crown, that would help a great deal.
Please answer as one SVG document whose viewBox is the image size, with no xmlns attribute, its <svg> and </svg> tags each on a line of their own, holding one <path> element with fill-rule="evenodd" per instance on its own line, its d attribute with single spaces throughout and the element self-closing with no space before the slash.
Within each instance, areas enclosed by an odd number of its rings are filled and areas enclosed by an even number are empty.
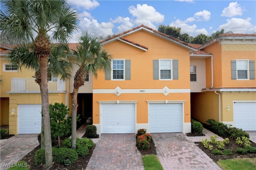
<svg viewBox="0 0 256 170">
<path fill-rule="evenodd" d="M 81 86 L 84 85 L 86 74 L 92 72 L 97 78 L 98 71 L 110 70 L 111 55 L 102 48 L 98 37 L 84 32 L 80 36 L 80 43 L 75 50 L 72 50 L 73 61 L 75 61 L 79 68 L 74 76 L 74 90 L 72 103 L 72 130 L 71 143 L 72 148 L 76 149 L 76 116 L 77 116 L 77 94 Z"/>
</svg>

